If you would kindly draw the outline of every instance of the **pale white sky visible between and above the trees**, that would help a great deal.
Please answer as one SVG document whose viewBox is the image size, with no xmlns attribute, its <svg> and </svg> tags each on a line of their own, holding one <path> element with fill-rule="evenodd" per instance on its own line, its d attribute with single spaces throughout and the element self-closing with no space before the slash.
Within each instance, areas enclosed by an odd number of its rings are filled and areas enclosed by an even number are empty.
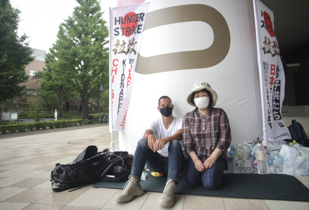
<svg viewBox="0 0 309 210">
<path fill-rule="evenodd" d="M 59 25 L 72 16 L 76 0 L 10 0 L 13 8 L 18 8 L 21 21 L 18 35 L 29 36 L 29 46 L 49 52 L 57 40 Z M 108 8 L 115 7 L 117 0 L 101 0 L 102 18 L 109 22 Z M 108 25 L 108 24 L 107 24 Z"/>
</svg>

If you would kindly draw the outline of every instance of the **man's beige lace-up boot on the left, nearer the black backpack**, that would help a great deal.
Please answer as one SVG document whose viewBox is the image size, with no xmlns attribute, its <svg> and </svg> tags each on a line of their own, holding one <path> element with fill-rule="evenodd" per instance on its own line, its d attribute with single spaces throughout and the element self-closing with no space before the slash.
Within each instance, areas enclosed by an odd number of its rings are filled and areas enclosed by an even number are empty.
<svg viewBox="0 0 309 210">
<path fill-rule="evenodd" d="M 125 184 L 123 191 L 115 195 L 115 201 L 125 202 L 131 200 L 134 196 L 140 196 L 144 193 L 139 179 L 136 177 L 129 177 L 129 180 Z"/>
</svg>

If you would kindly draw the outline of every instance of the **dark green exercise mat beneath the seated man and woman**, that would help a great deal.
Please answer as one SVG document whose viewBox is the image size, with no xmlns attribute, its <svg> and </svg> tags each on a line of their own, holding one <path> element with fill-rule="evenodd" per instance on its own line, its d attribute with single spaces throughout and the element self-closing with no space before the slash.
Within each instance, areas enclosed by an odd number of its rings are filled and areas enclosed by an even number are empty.
<svg viewBox="0 0 309 210">
<path fill-rule="evenodd" d="M 145 192 L 163 192 L 167 176 L 154 177 L 150 171 L 146 180 L 141 180 Z M 127 182 L 100 181 L 94 188 L 123 189 Z M 213 196 L 230 198 L 309 201 L 309 190 L 294 176 L 285 174 L 223 174 L 222 185 L 215 190 L 207 190 L 203 186 L 188 188 L 179 176 L 179 184 L 175 194 L 194 196 Z"/>
</svg>

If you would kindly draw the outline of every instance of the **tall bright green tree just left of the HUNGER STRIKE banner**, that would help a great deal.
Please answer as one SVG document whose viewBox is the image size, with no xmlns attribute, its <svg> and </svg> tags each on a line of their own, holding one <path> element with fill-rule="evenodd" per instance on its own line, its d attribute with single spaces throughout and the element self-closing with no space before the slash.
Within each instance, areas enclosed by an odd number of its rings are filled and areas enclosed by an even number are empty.
<svg viewBox="0 0 309 210">
<path fill-rule="evenodd" d="M 59 26 L 57 60 L 62 77 L 82 101 L 83 119 L 89 118 L 89 99 L 94 98 L 98 87 L 108 77 L 108 27 L 105 25 L 97 0 L 76 0 L 72 17 Z M 105 78 L 105 79 L 104 79 Z"/>
</svg>

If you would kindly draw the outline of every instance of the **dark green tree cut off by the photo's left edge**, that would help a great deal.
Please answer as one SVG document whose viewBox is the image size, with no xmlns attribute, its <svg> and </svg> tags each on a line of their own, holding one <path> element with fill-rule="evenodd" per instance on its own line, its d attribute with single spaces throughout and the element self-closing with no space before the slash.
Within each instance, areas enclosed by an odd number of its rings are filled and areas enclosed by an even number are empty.
<svg viewBox="0 0 309 210">
<path fill-rule="evenodd" d="M 19 13 L 9 0 L 0 1 L 0 104 L 23 95 L 25 65 L 34 59 L 26 34 L 17 35 Z"/>
</svg>

